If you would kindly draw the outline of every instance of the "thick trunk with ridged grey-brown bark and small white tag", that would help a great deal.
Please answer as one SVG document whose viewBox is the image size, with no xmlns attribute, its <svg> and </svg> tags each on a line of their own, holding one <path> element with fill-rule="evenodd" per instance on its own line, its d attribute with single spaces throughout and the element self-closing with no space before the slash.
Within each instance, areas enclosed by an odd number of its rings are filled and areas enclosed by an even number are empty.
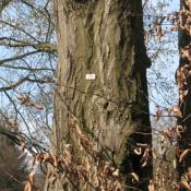
<svg viewBox="0 0 191 191">
<path fill-rule="evenodd" d="M 138 142 L 151 145 L 152 140 L 141 0 L 56 0 L 55 9 L 59 63 L 52 153 L 60 156 L 70 143 L 76 160 L 83 157 L 70 130 L 75 116 L 94 151 L 122 174 L 136 172 L 136 187 L 147 190 L 152 166 L 141 169 L 141 156 L 133 154 Z M 45 191 L 50 190 L 83 187 L 48 177 Z"/>
</svg>

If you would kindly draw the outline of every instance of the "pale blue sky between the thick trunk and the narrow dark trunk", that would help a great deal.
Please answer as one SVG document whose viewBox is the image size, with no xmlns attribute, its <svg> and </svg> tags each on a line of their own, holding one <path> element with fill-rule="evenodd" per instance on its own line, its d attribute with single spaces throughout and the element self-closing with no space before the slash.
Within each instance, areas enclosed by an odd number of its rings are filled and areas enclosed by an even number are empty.
<svg viewBox="0 0 191 191">
<path fill-rule="evenodd" d="M 150 0 L 150 3 L 156 5 L 159 1 Z M 178 0 L 163 0 L 168 5 L 163 7 L 163 11 L 155 10 L 155 15 L 166 15 L 179 10 Z M 168 31 L 169 23 L 165 23 L 164 29 Z M 167 27 L 167 28 L 166 28 Z M 153 50 L 148 51 L 152 56 L 158 48 L 162 52 L 154 59 L 152 67 L 147 70 L 150 84 L 150 108 L 155 112 L 155 106 L 158 104 L 162 107 L 171 107 L 178 103 L 178 89 L 175 82 L 175 72 L 178 68 L 178 33 L 166 34 L 162 38 L 162 43 L 152 39 Z"/>
</svg>

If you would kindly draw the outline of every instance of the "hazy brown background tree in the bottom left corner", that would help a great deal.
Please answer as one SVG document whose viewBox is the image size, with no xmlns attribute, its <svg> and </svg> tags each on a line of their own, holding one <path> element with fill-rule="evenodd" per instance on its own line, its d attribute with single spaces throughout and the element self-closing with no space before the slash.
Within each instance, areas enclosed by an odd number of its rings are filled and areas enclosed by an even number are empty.
<svg viewBox="0 0 191 191">
<path fill-rule="evenodd" d="M 24 180 L 27 175 L 25 157 L 21 157 L 22 151 L 13 145 L 10 140 L 1 135 L 0 142 L 0 190 L 20 191 L 24 189 Z"/>
</svg>

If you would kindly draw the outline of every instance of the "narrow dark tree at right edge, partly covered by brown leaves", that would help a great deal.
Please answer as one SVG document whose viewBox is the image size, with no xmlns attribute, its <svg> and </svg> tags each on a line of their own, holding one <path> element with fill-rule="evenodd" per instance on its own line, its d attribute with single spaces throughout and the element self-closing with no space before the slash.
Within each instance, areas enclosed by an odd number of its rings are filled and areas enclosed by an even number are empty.
<svg viewBox="0 0 191 191">
<path fill-rule="evenodd" d="M 180 9 L 181 9 L 181 31 L 179 32 L 179 68 L 177 70 L 177 84 L 179 86 L 179 106 L 181 109 L 181 118 L 179 118 L 179 124 L 183 127 L 182 138 L 179 139 L 179 147 L 182 151 L 186 151 L 191 145 L 191 130 L 190 130 L 190 114 L 191 114 L 191 94 L 190 94 L 190 53 L 186 55 L 190 51 L 190 41 L 191 41 L 191 33 L 189 31 L 190 27 L 190 11 L 191 11 L 191 2 L 188 0 L 180 0 Z M 179 165 L 179 172 L 182 175 L 187 171 L 188 167 L 191 166 L 191 154 L 188 153 L 187 157 Z"/>
</svg>

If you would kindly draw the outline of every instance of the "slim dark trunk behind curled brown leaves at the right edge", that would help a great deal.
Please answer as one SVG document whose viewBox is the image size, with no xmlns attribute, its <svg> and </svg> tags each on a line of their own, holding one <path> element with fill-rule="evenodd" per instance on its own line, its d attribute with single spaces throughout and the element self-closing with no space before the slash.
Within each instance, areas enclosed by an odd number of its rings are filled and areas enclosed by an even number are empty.
<svg viewBox="0 0 191 191">
<path fill-rule="evenodd" d="M 184 9 L 187 11 L 191 11 L 191 3 L 188 0 L 180 0 L 180 4 L 181 4 L 181 10 Z M 182 21 L 183 21 L 183 25 L 186 24 L 186 16 L 182 16 Z M 180 50 L 180 61 L 179 61 L 179 70 L 183 69 L 183 67 L 188 65 L 188 68 L 186 70 L 183 70 L 183 75 L 184 75 L 184 85 L 181 86 L 181 88 L 179 88 L 179 96 L 180 96 L 180 102 L 179 102 L 179 106 L 181 109 L 181 114 L 182 117 L 178 120 L 178 123 L 181 124 L 184 129 L 184 132 L 182 134 L 182 136 L 178 140 L 179 142 L 179 147 L 180 150 L 184 151 L 187 148 L 190 147 L 191 145 L 191 128 L 190 128 L 190 123 L 191 123 L 191 62 L 190 59 L 182 57 L 181 56 L 181 50 L 188 50 L 191 48 L 190 46 L 191 43 L 191 36 L 183 32 L 180 31 L 179 32 L 179 50 Z M 184 94 L 187 92 L 187 94 Z M 181 100 L 182 98 L 182 94 L 184 94 L 183 96 L 183 100 Z M 179 174 L 182 175 L 188 167 L 191 166 L 191 154 L 189 154 L 183 160 L 182 163 L 179 165 Z"/>
</svg>

